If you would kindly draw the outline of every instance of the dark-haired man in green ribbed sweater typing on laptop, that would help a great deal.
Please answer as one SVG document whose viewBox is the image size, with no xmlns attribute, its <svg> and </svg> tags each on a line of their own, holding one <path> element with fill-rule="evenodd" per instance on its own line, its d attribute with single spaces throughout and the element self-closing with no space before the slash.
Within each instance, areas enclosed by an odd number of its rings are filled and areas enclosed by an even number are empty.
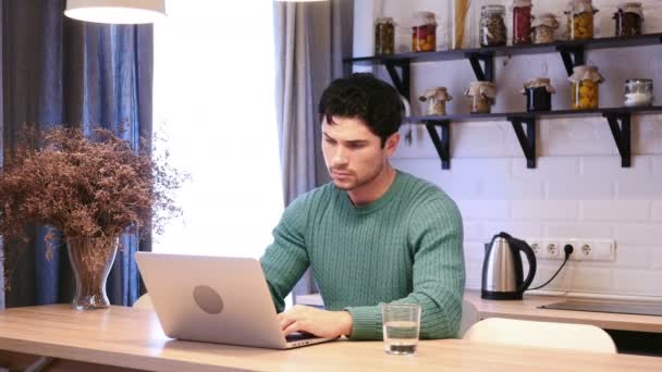
<svg viewBox="0 0 662 372">
<path fill-rule="evenodd" d="M 384 302 L 421 306 L 421 338 L 456 336 L 465 284 L 462 219 L 434 185 L 389 163 L 399 92 L 370 74 L 322 94 L 322 152 L 332 183 L 292 202 L 261 258 L 279 312 L 310 266 L 328 310 L 280 313 L 285 334 L 381 339 Z"/>
</svg>

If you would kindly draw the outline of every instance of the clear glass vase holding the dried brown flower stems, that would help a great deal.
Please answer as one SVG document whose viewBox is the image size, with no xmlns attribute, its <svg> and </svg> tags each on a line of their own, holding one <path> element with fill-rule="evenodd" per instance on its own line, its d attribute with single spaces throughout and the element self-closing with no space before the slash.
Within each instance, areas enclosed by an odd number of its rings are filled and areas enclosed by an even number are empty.
<svg viewBox="0 0 662 372">
<path fill-rule="evenodd" d="M 69 260 L 76 280 L 76 293 L 71 302 L 74 309 L 105 309 L 110 306 L 106 280 L 118 252 L 118 238 L 66 239 Z"/>
</svg>

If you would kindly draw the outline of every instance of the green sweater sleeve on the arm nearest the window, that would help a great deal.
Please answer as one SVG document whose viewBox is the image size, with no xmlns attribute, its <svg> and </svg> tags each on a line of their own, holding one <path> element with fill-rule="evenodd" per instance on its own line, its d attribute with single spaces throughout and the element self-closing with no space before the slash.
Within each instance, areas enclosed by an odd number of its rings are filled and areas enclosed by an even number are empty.
<svg viewBox="0 0 662 372">
<path fill-rule="evenodd" d="M 301 197 L 283 212 L 281 221 L 272 232 L 273 243 L 260 258 L 277 312 L 284 310 L 285 296 L 294 288 L 309 264 L 304 238 L 305 221 L 305 200 Z"/>
</svg>

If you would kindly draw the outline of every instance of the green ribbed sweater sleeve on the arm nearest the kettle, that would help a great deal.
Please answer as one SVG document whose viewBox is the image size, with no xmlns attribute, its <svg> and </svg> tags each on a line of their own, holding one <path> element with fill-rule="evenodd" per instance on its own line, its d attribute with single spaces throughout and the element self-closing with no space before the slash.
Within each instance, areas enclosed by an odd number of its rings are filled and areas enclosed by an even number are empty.
<svg viewBox="0 0 662 372">
<path fill-rule="evenodd" d="M 433 198 L 418 207 L 408 223 L 414 288 L 394 302 L 420 305 L 420 338 L 456 337 L 465 286 L 459 211 L 448 197 Z M 382 338 L 381 305 L 345 309 L 352 314 L 351 338 Z"/>
</svg>

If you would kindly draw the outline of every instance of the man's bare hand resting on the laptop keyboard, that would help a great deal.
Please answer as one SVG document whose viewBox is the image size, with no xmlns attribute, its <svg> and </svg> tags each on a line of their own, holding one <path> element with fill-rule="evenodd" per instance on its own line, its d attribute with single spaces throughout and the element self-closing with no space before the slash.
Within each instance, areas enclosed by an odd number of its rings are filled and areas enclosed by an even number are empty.
<svg viewBox="0 0 662 372">
<path fill-rule="evenodd" d="M 283 334 L 308 332 L 318 337 L 335 338 L 352 333 L 352 315 L 347 311 L 327 311 L 295 305 L 278 314 Z"/>
</svg>

